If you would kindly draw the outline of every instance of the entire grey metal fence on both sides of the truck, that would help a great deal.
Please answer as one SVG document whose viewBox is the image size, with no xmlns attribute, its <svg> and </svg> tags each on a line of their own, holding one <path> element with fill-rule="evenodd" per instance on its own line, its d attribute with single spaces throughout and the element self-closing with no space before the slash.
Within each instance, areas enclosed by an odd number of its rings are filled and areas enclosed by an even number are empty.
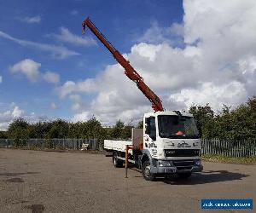
<svg viewBox="0 0 256 213">
<path fill-rule="evenodd" d="M 202 139 L 202 154 L 224 155 L 229 157 L 255 157 L 256 139 L 244 141 L 221 141 Z M 0 139 L 0 147 L 24 147 L 28 149 L 74 149 L 79 150 L 87 144 L 91 150 L 102 150 L 103 144 L 97 139 L 27 139 L 14 141 Z"/>
</svg>

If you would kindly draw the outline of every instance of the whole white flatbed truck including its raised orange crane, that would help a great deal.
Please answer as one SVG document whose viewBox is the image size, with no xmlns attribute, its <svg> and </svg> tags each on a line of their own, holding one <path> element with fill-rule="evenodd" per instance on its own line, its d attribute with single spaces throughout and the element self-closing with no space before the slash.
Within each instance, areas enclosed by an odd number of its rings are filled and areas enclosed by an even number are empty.
<svg viewBox="0 0 256 213">
<path fill-rule="evenodd" d="M 82 22 L 83 33 L 86 26 L 124 67 L 125 75 L 137 84 L 154 110 L 144 114 L 143 129 L 132 129 L 131 141 L 104 140 L 104 149 L 111 153 L 113 166 L 119 168 L 125 163 L 127 168 L 129 162 L 142 171 L 147 181 L 172 174 L 188 178 L 194 172 L 201 172 L 201 140 L 193 115 L 166 111 L 130 61 L 108 42 L 89 18 Z"/>
</svg>

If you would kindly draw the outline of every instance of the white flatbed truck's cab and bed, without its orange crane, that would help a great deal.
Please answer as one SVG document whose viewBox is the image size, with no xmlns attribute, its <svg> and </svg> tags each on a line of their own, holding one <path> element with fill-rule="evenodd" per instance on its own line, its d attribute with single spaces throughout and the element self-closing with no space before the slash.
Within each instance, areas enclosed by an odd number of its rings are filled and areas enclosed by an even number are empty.
<svg viewBox="0 0 256 213">
<path fill-rule="evenodd" d="M 144 114 L 143 130 L 132 131 L 132 141 L 104 141 L 116 167 L 124 163 L 125 145 L 133 146 L 129 161 L 142 169 L 148 181 L 167 174 L 189 177 L 203 169 L 201 140 L 189 113 L 149 112 Z"/>
</svg>

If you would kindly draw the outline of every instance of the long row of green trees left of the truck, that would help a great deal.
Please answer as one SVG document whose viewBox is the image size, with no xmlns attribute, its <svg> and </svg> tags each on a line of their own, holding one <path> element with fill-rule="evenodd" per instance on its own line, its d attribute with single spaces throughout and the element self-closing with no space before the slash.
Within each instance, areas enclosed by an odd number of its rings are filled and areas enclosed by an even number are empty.
<svg viewBox="0 0 256 213">
<path fill-rule="evenodd" d="M 95 118 L 85 122 L 71 123 L 63 119 L 28 123 L 23 118 L 16 118 L 6 132 L 0 132 L 0 138 L 10 138 L 15 141 L 28 138 L 81 138 L 99 141 L 104 139 L 128 139 L 131 138 L 131 129 L 134 126 L 125 125 L 120 120 L 109 128 L 102 127 L 102 124 Z"/>
</svg>

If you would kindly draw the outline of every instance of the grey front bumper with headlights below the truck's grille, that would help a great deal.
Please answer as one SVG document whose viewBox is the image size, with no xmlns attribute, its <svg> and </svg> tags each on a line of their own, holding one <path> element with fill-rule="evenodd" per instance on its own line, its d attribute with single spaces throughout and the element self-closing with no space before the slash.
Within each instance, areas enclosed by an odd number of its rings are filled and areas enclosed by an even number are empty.
<svg viewBox="0 0 256 213">
<path fill-rule="evenodd" d="M 203 170 L 202 164 L 195 164 L 195 160 L 179 160 L 179 161 L 168 161 L 170 166 L 160 166 L 162 161 L 156 161 L 156 166 L 151 166 L 150 172 L 154 174 L 177 174 L 177 173 L 188 173 L 188 172 L 201 172 Z M 193 162 L 188 164 L 187 162 Z"/>
</svg>

